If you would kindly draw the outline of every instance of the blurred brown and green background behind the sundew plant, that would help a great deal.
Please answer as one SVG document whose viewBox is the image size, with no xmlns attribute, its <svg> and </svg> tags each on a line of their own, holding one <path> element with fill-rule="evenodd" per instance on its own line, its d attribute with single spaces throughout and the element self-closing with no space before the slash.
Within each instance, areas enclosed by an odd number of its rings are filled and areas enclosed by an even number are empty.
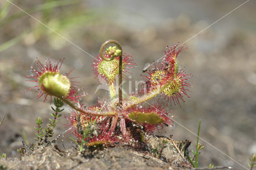
<svg viewBox="0 0 256 170">
<path fill-rule="evenodd" d="M 137 67 L 131 69 L 132 86 L 140 81 L 145 64 L 160 59 L 166 45 L 184 43 L 245 0 L 12 0 L 90 55 L 99 53 L 109 39 L 121 43 L 124 52 L 132 55 Z M 178 56 L 180 67 L 193 77 L 190 99 L 184 97 L 182 107 L 168 105 L 170 115 L 182 126 L 196 133 L 202 120 L 200 137 L 247 167 L 250 155 L 256 153 L 256 1 L 250 0 L 188 42 L 188 49 Z M 0 0 L 0 152 L 19 157 L 17 148 L 25 136 L 35 142 L 36 118 L 42 117 L 45 127 L 51 113 L 49 101 L 36 99 L 35 90 L 24 92 L 34 83 L 25 82 L 34 59 L 42 63 L 65 57 L 61 71 L 70 77 L 80 76 L 81 87 L 89 94 L 85 105 L 96 103 L 97 96 L 108 98 L 99 89 L 92 75 L 92 57 L 52 32 L 6 0 Z M 129 74 L 128 74 L 129 75 Z M 128 89 L 128 83 L 124 85 Z M 154 103 L 155 100 L 149 101 Z M 55 136 L 63 132 L 68 116 L 65 107 Z M 192 140 L 196 136 L 175 124 L 163 135 L 174 140 Z M 57 143 L 71 148 L 69 137 Z M 74 136 L 72 136 L 74 138 Z M 200 166 L 242 166 L 206 142 L 199 157 Z"/>
</svg>

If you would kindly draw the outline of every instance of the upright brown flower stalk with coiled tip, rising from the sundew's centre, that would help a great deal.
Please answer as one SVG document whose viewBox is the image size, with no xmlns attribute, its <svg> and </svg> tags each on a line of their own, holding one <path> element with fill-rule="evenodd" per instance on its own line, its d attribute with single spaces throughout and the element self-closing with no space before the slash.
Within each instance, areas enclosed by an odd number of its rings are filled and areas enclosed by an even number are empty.
<svg viewBox="0 0 256 170">
<path fill-rule="evenodd" d="M 106 58 L 104 56 L 104 48 L 106 47 L 106 45 L 110 44 L 110 43 L 114 43 L 117 45 L 118 49 L 121 50 L 121 53 L 119 56 L 114 56 L 112 55 L 110 58 Z M 120 43 L 116 40 L 108 40 L 106 42 L 104 42 L 101 47 L 100 47 L 100 57 L 102 57 L 102 59 L 104 59 L 105 61 L 112 61 L 115 57 L 119 57 L 119 73 L 118 73 L 118 96 L 119 96 L 119 105 L 122 106 L 122 69 L 123 69 L 123 59 L 122 59 L 122 47 L 120 45 Z"/>
</svg>

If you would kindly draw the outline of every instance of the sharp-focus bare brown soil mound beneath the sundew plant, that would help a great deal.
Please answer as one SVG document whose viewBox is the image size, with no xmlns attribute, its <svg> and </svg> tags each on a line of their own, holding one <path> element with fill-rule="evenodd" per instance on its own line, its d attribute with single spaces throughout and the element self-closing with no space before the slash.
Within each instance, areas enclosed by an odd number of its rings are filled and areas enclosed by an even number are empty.
<svg viewBox="0 0 256 170">
<path fill-rule="evenodd" d="M 162 144 L 162 140 L 168 141 L 165 145 L 167 147 L 161 154 L 159 148 L 154 156 L 152 149 Z M 57 144 L 36 146 L 32 151 L 27 148 L 24 156 L 20 158 L 1 158 L 0 169 L 8 169 L 13 166 L 12 169 L 17 170 L 172 170 L 192 168 L 184 157 L 182 145 L 179 142 L 170 138 L 149 135 L 145 136 L 145 141 L 140 149 L 121 144 L 108 148 L 89 148 L 84 152 L 84 156 L 75 148 L 62 150 Z M 185 147 L 189 145 L 190 142 Z"/>
</svg>

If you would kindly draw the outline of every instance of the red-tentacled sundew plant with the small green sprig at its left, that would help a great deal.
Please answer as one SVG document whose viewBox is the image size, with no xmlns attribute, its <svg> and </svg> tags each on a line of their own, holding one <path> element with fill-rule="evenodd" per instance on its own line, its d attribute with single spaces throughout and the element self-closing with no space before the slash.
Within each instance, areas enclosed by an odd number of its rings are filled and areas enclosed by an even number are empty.
<svg viewBox="0 0 256 170">
<path fill-rule="evenodd" d="M 108 46 L 114 43 L 115 46 Z M 52 129 L 56 126 L 56 118 L 60 117 L 58 112 L 63 102 L 70 107 L 68 127 L 71 127 L 72 133 L 76 136 L 81 146 L 108 146 L 115 143 L 128 143 L 130 141 L 141 142 L 142 131 L 147 134 L 153 134 L 154 131 L 162 129 L 164 126 L 172 127 L 173 121 L 166 110 L 166 106 L 181 105 L 184 97 L 188 97 L 188 88 L 191 84 L 186 81 L 191 78 L 183 69 L 179 69 L 177 57 L 184 49 L 184 45 L 178 48 L 178 43 L 167 46 L 164 51 L 164 57 L 161 62 L 154 63 L 143 70 L 142 78 L 145 83 L 139 89 L 137 94 L 130 94 L 126 97 L 122 94 L 122 78 L 126 78 L 125 73 L 136 65 L 133 63 L 132 56 L 122 51 L 120 43 L 116 40 L 108 40 L 102 44 L 100 54 L 92 61 L 92 71 L 95 76 L 100 76 L 102 80 L 108 83 L 110 89 L 110 100 L 98 98 L 96 105 L 85 106 L 81 97 L 87 93 L 81 93 L 77 85 L 76 78 L 69 77 L 69 73 L 62 74 L 60 68 L 63 59 L 54 64 L 50 59 L 43 64 L 37 61 L 37 68 L 32 67 L 31 75 L 27 81 L 34 81 L 36 86 L 31 89 L 37 89 L 37 98 L 43 98 L 43 101 L 54 97 L 52 114 L 54 120 L 48 128 L 43 130 L 48 136 L 51 136 Z M 118 79 L 118 86 L 115 81 Z M 28 89 L 28 90 L 31 90 Z M 164 101 L 158 100 L 154 104 L 147 101 L 160 95 Z M 145 104 L 146 103 L 146 104 Z M 37 119 L 35 127 L 38 138 L 41 143 L 43 133 L 40 132 L 42 120 Z M 138 140 L 139 139 L 139 140 Z"/>
</svg>

